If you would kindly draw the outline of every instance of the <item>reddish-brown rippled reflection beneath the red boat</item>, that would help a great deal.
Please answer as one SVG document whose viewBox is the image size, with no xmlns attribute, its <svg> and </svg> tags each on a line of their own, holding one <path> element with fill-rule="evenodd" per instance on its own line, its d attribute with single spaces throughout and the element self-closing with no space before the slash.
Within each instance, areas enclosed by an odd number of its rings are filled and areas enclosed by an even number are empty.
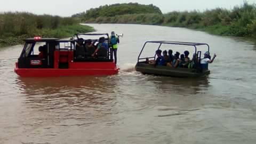
<svg viewBox="0 0 256 144">
<path fill-rule="evenodd" d="M 46 109 L 99 107 L 115 99 L 111 77 L 18 78 L 24 103 Z M 108 106 L 107 106 L 108 107 Z"/>
</svg>

